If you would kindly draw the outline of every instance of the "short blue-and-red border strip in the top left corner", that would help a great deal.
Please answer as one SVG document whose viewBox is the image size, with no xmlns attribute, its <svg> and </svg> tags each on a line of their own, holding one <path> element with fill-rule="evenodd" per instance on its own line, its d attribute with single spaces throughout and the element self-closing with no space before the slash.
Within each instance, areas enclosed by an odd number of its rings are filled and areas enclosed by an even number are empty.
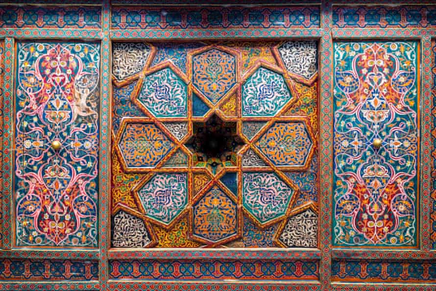
<svg viewBox="0 0 436 291">
<path fill-rule="evenodd" d="M 0 6 L 0 28 L 101 28 L 100 6 Z"/>
</svg>

